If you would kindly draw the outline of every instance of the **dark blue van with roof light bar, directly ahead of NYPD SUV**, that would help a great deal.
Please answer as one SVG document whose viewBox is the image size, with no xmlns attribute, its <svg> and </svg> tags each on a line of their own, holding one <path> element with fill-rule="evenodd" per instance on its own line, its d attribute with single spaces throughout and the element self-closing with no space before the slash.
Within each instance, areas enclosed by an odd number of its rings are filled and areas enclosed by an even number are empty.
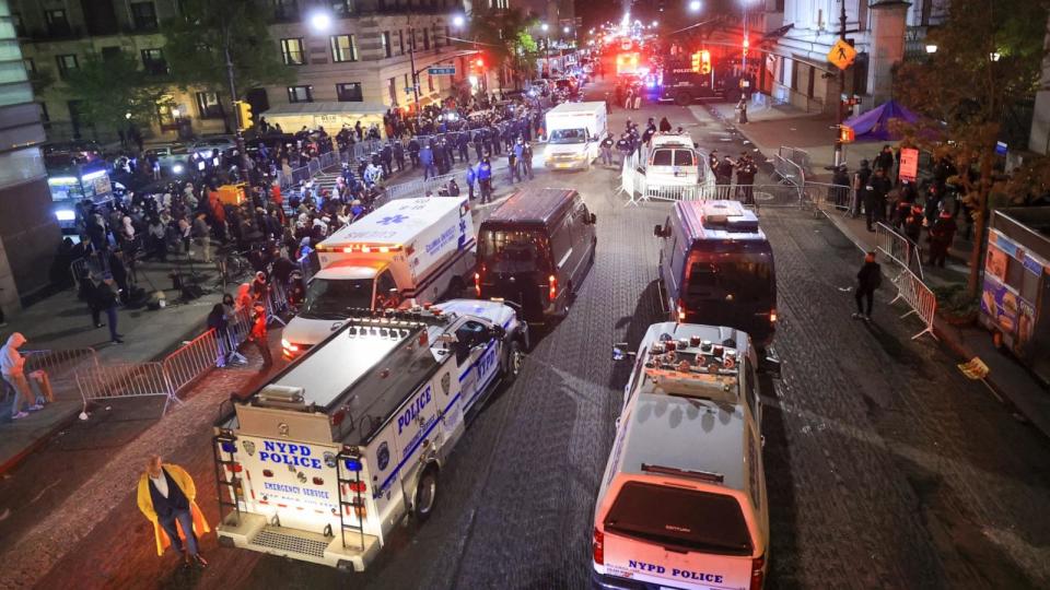
<svg viewBox="0 0 1050 590">
<path fill-rule="evenodd" d="M 663 226 L 660 285 L 668 319 L 732 326 L 765 349 L 777 327 L 773 249 L 737 201 L 679 201 Z"/>
</svg>

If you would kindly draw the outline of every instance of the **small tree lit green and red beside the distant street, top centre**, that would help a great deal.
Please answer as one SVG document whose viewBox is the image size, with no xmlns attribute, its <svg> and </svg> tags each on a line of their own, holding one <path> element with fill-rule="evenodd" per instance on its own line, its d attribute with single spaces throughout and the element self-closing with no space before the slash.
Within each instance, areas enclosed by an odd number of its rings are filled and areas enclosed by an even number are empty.
<svg viewBox="0 0 1050 590">
<path fill-rule="evenodd" d="M 535 64 L 536 42 L 528 34 L 535 19 L 517 9 L 493 9 L 477 3 L 470 12 L 467 32 L 492 67 L 529 71 Z"/>
</svg>

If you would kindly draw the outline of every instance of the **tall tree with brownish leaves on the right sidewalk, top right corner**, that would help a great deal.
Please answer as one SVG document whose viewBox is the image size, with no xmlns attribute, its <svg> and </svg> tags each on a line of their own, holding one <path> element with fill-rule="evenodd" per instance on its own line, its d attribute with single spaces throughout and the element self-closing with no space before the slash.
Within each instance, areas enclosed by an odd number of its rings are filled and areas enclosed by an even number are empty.
<svg viewBox="0 0 1050 590">
<path fill-rule="evenodd" d="M 967 282 L 972 295 L 980 288 L 989 196 L 1014 192 L 1018 187 L 1005 185 L 1022 181 L 996 178 L 995 142 L 1006 110 L 1038 90 L 1047 16 L 1041 0 L 952 0 L 947 22 L 926 42 L 937 51 L 895 72 L 895 97 L 929 117 L 910 139 L 952 156 L 960 170 L 953 181 L 972 211 L 976 236 Z"/>
</svg>

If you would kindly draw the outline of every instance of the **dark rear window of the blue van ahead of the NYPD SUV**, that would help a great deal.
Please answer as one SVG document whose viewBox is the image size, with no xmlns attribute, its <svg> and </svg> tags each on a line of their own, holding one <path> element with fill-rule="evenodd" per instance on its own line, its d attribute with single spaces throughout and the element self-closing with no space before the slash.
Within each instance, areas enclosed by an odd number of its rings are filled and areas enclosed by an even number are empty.
<svg viewBox="0 0 1050 590">
<path fill-rule="evenodd" d="M 767 304 L 775 293 L 769 252 L 696 252 L 689 260 L 687 302 Z"/>
</svg>

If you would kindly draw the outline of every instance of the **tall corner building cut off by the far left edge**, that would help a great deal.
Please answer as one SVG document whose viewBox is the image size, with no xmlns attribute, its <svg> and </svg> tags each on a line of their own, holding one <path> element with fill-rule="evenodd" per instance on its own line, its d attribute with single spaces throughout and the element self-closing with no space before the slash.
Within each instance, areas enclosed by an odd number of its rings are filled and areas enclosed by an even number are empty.
<svg viewBox="0 0 1050 590">
<path fill-rule="evenodd" d="M 0 307 L 10 312 L 48 283 L 60 232 L 38 145 L 44 128 L 9 0 L 0 0 Z"/>
</svg>

